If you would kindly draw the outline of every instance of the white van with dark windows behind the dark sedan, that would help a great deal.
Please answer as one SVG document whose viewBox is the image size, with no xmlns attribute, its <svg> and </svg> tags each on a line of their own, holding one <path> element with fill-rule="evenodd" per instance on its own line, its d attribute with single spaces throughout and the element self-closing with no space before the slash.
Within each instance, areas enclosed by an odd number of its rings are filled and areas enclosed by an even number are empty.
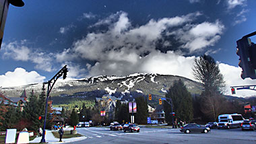
<svg viewBox="0 0 256 144">
<path fill-rule="evenodd" d="M 241 127 L 241 123 L 245 120 L 242 114 L 221 114 L 218 116 L 218 129 Z"/>
</svg>

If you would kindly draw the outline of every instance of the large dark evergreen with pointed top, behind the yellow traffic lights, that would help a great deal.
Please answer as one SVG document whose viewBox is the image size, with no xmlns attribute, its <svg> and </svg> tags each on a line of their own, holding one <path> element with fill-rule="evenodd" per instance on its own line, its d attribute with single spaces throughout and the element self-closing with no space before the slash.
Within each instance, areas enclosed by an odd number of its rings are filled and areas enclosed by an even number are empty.
<svg viewBox="0 0 256 144">
<path fill-rule="evenodd" d="M 193 101 L 191 94 L 187 91 L 183 81 L 174 81 L 169 92 L 166 94 L 166 98 L 172 99 L 172 108 L 175 112 L 174 119 L 190 122 L 193 119 Z M 166 121 L 172 123 L 172 114 L 170 114 L 170 104 L 164 101 L 164 112 Z"/>
</svg>

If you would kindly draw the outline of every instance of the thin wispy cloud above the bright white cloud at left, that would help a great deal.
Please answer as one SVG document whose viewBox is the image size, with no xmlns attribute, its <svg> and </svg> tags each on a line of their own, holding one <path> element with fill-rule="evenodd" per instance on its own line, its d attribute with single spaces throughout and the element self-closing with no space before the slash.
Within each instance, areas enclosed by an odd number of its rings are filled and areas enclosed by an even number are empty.
<svg viewBox="0 0 256 144">
<path fill-rule="evenodd" d="M 53 71 L 53 54 L 40 52 L 26 46 L 26 41 L 22 42 L 9 42 L 3 44 L 3 57 L 5 59 L 14 59 L 15 61 L 28 61 L 35 64 L 36 69 L 43 71 Z"/>
</svg>

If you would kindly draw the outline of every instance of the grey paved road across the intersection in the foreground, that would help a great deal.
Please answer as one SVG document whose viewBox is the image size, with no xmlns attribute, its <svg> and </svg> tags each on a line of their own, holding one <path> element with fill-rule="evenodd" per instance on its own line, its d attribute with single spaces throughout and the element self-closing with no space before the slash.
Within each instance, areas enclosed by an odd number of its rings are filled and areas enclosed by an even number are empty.
<svg viewBox="0 0 256 144">
<path fill-rule="evenodd" d="M 139 133 L 124 133 L 110 131 L 106 127 L 79 128 L 78 133 L 87 139 L 75 143 L 256 143 L 256 131 L 241 131 L 241 129 L 213 129 L 210 133 L 179 132 L 179 129 L 143 128 Z"/>
</svg>

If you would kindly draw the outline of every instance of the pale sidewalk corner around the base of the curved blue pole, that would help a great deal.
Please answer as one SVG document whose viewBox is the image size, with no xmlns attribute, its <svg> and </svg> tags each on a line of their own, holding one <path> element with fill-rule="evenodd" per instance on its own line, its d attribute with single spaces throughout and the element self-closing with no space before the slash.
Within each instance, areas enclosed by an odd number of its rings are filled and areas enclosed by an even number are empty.
<svg viewBox="0 0 256 144">
<path fill-rule="evenodd" d="M 73 130 L 73 128 L 65 128 L 64 131 L 70 131 Z M 58 130 L 55 130 L 58 131 Z M 69 139 L 62 139 L 62 142 L 59 142 L 59 139 L 55 138 L 52 131 L 46 130 L 46 135 L 45 135 L 45 141 L 46 143 L 71 143 L 75 141 L 81 141 L 83 139 L 87 139 L 87 137 L 73 137 Z M 42 137 L 36 137 L 30 143 L 40 143 Z"/>
</svg>

